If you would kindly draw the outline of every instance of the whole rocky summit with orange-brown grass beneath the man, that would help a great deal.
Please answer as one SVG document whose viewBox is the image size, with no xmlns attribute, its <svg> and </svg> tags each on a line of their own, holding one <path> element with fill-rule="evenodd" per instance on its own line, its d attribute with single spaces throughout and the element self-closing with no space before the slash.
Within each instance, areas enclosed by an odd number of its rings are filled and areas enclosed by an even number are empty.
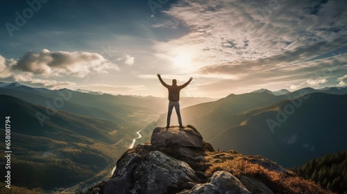
<svg viewBox="0 0 347 194">
<path fill-rule="evenodd" d="M 192 125 L 156 127 L 127 150 L 100 193 L 330 193 L 261 156 L 215 151 Z"/>
</svg>

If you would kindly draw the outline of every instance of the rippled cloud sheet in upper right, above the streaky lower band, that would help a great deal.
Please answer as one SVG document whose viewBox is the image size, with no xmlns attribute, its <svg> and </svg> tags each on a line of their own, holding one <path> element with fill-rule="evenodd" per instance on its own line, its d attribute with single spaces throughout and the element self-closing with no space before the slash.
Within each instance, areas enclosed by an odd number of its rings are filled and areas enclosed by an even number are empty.
<svg viewBox="0 0 347 194">
<path fill-rule="evenodd" d="M 205 65 L 284 51 L 314 58 L 337 44 L 347 46 L 345 6 L 346 1 L 178 1 L 165 13 L 188 26 L 189 33 L 155 46 L 162 56 L 186 48 Z M 319 42 L 328 45 L 312 47 Z M 312 52 L 314 48 L 321 52 Z"/>
</svg>

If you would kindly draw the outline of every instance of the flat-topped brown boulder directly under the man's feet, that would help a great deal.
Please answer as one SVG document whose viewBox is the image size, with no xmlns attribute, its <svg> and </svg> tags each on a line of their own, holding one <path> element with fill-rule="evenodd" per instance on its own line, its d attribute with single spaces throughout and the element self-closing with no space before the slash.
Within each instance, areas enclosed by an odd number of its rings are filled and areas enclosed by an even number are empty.
<svg viewBox="0 0 347 194">
<path fill-rule="evenodd" d="M 160 147 L 201 148 L 203 147 L 203 137 L 194 127 L 156 127 L 153 130 L 151 144 Z"/>
</svg>

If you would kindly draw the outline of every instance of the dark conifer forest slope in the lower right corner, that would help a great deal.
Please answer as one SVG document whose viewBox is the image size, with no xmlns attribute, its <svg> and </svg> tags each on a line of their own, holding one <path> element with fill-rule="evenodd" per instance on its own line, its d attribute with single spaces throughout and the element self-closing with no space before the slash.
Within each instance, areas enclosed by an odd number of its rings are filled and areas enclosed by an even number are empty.
<svg viewBox="0 0 347 194">
<path fill-rule="evenodd" d="M 347 194 L 347 150 L 311 159 L 293 170 L 298 176 L 311 179 L 323 188 Z"/>
</svg>

